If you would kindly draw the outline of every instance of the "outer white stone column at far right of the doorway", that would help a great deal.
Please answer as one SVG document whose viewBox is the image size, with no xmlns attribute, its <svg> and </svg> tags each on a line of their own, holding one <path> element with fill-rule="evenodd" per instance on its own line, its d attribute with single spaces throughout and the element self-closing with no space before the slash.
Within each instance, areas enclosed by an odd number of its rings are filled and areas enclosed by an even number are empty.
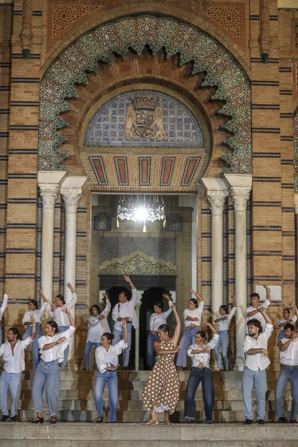
<svg viewBox="0 0 298 447">
<path fill-rule="evenodd" d="M 246 333 L 243 312 L 247 307 L 247 249 L 246 249 L 246 205 L 252 188 L 252 176 L 246 174 L 224 174 L 225 184 L 234 204 L 234 247 L 235 247 L 235 295 L 237 300 L 236 351 L 234 371 L 243 371 L 243 339 Z"/>
</svg>

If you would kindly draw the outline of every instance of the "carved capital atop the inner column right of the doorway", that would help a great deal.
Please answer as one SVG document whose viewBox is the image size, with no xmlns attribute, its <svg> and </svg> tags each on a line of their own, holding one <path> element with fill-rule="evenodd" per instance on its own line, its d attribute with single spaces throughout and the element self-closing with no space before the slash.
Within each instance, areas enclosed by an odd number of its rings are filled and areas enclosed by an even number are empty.
<svg viewBox="0 0 298 447">
<path fill-rule="evenodd" d="M 224 202 L 228 196 L 228 189 L 223 180 L 221 178 L 202 178 L 201 182 L 212 214 L 222 216 L 224 213 Z"/>
</svg>

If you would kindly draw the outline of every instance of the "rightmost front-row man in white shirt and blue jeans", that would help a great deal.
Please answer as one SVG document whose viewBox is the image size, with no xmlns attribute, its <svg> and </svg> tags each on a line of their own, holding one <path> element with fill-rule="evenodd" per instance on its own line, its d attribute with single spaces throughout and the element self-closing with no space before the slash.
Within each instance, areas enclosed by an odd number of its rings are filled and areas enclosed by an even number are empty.
<svg viewBox="0 0 298 447">
<path fill-rule="evenodd" d="M 297 307 L 295 306 L 295 311 Z M 279 424 L 287 422 L 284 410 L 284 394 L 288 382 L 291 382 L 292 406 L 290 422 L 297 423 L 298 410 L 298 334 L 292 323 L 284 326 L 285 337 L 277 344 L 280 350 L 281 372 L 275 387 L 276 416 Z"/>
</svg>

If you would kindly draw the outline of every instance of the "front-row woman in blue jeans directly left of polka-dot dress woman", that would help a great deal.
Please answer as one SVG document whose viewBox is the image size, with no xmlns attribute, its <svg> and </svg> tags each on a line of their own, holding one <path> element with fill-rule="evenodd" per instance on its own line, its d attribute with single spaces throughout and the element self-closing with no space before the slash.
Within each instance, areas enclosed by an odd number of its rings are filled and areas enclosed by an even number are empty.
<svg viewBox="0 0 298 447">
<path fill-rule="evenodd" d="M 114 339 L 114 335 L 105 332 L 100 339 L 101 346 L 95 349 L 95 362 L 98 369 L 94 388 L 97 423 L 103 421 L 102 395 L 106 384 L 108 385 L 109 390 L 110 422 L 116 422 L 116 410 L 118 405 L 118 376 L 116 370 L 119 367 L 118 356 L 128 347 L 127 321 L 125 318 L 122 321 L 122 328 L 122 340 L 112 346 L 111 343 Z"/>
</svg>

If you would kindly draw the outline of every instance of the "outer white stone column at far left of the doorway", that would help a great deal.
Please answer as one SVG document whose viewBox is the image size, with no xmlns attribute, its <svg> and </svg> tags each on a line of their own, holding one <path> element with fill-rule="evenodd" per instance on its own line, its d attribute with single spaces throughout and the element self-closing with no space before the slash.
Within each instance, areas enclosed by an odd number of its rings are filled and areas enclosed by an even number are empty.
<svg viewBox="0 0 298 447">
<path fill-rule="evenodd" d="M 39 171 L 37 185 L 42 199 L 41 234 L 41 281 L 45 297 L 52 302 L 53 295 L 53 251 L 54 251 L 54 211 L 57 193 L 66 172 Z M 50 305 L 48 306 L 50 309 Z"/>
</svg>

